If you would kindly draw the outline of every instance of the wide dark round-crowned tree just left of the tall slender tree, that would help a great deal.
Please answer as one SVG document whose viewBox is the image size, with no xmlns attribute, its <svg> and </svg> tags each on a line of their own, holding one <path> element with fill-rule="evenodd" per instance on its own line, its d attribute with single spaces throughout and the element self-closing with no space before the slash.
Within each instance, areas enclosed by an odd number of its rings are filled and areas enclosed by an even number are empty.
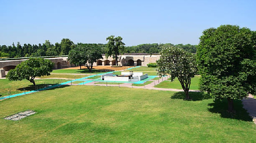
<svg viewBox="0 0 256 143">
<path fill-rule="evenodd" d="M 89 72 L 93 68 L 93 63 L 99 59 L 103 59 L 101 48 L 97 44 L 78 44 L 76 48 L 69 51 L 69 59 L 71 63 L 84 64 Z"/>
</svg>

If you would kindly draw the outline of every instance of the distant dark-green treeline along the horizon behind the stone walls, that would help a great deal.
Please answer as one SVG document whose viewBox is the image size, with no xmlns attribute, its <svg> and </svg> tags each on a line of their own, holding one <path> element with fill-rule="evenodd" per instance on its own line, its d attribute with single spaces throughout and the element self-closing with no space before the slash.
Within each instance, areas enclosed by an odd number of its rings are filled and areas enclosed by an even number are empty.
<svg viewBox="0 0 256 143">
<path fill-rule="evenodd" d="M 60 43 L 51 44 L 49 40 L 45 40 L 45 43 L 38 45 L 24 44 L 20 45 L 19 42 L 12 46 L 0 45 L 0 57 L 42 57 L 42 56 L 56 56 L 56 55 L 68 55 L 69 50 L 75 48 L 81 43 L 74 44 L 70 39 L 63 38 Z M 102 54 L 105 53 L 106 44 L 97 44 L 102 49 Z M 159 53 L 163 48 L 176 46 L 185 49 L 188 52 L 196 53 L 196 45 L 190 44 L 140 44 L 137 46 L 124 46 L 121 53 Z"/>
</svg>

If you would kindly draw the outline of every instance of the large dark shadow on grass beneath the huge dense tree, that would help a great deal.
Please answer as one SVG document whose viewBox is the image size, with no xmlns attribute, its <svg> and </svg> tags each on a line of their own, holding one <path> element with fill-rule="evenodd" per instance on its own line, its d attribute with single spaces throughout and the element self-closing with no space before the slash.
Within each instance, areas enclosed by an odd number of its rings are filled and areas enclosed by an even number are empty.
<svg viewBox="0 0 256 143">
<path fill-rule="evenodd" d="M 217 101 L 215 100 L 213 103 L 208 104 L 212 108 L 208 108 L 208 110 L 212 113 L 221 114 L 223 118 L 233 118 L 242 121 L 253 121 L 252 117 L 247 113 L 247 111 L 243 108 L 243 104 L 241 100 L 234 100 L 234 110 L 235 112 L 228 112 L 228 101 Z"/>
</svg>

